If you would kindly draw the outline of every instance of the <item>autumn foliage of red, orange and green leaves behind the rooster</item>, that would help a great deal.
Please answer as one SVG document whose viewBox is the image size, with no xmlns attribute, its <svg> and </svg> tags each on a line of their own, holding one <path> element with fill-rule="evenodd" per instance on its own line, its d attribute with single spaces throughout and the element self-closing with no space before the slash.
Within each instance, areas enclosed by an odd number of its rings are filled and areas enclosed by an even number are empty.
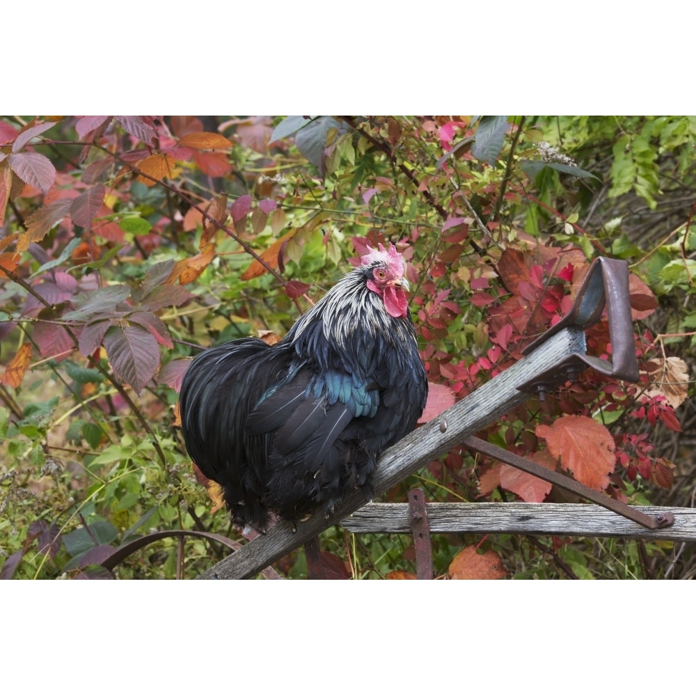
<svg viewBox="0 0 696 696">
<path fill-rule="evenodd" d="M 693 506 L 695 134 L 676 116 L 3 118 L 0 572 L 100 576 L 142 539 L 116 576 L 193 577 L 239 543 L 180 448 L 183 358 L 284 333 L 365 239 L 409 254 L 441 405 L 519 359 L 592 258 L 628 260 L 642 382 L 584 373 L 486 436 L 560 466 L 540 427 L 599 428 L 588 440 L 612 457 L 576 477 Z M 607 341 L 590 331 L 597 354 Z M 431 500 L 560 495 L 461 449 L 388 499 L 415 484 Z M 337 576 L 413 571 L 405 538 L 337 528 L 322 548 Z M 452 577 L 472 553 L 517 578 L 694 574 L 685 544 L 461 535 L 435 551 Z M 276 571 L 304 576 L 303 554 Z"/>
</svg>

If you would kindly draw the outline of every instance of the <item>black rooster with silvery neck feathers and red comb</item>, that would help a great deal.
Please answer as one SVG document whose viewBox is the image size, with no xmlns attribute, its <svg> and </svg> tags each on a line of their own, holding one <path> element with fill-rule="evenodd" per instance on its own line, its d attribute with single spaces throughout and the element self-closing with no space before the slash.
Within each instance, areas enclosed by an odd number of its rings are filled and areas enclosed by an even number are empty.
<svg viewBox="0 0 696 696">
<path fill-rule="evenodd" d="M 221 484 L 240 526 L 264 530 L 271 512 L 329 514 L 369 486 L 380 452 L 425 407 L 404 260 L 391 244 L 368 251 L 282 341 L 207 349 L 184 376 L 189 456 Z"/>
</svg>

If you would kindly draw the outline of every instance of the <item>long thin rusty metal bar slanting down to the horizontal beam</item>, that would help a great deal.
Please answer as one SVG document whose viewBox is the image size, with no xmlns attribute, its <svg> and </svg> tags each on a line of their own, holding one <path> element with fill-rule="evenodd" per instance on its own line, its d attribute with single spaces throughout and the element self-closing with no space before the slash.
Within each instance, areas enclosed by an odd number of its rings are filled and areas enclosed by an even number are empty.
<svg viewBox="0 0 696 696">
<path fill-rule="evenodd" d="M 591 500 L 592 503 L 606 507 L 606 509 L 615 512 L 623 517 L 626 517 L 633 522 L 636 522 L 643 527 L 648 529 L 659 529 L 662 527 L 669 527 L 674 524 L 674 514 L 672 512 L 661 512 L 657 515 L 647 515 L 640 510 L 622 503 L 620 500 L 615 500 L 609 496 L 601 493 L 600 491 L 594 491 L 587 486 L 583 486 L 580 482 L 564 476 L 557 471 L 547 469 L 535 461 L 530 461 L 530 459 L 525 459 L 520 457 L 519 454 L 513 454 L 513 452 L 508 452 L 503 450 L 503 448 L 496 447 L 496 445 L 491 445 L 491 443 L 485 440 L 480 440 L 477 437 L 469 437 L 464 441 L 464 445 L 468 448 L 475 450 L 476 452 L 482 452 L 482 454 L 487 454 L 493 459 L 498 459 L 504 461 L 505 464 L 514 466 L 515 468 L 521 469 L 532 476 L 536 476 L 544 481 L 554 484 L 560 488 L 571 491 L 571 493 L 576 493 L 576 495 L 585 500 Z"/>
</svg>

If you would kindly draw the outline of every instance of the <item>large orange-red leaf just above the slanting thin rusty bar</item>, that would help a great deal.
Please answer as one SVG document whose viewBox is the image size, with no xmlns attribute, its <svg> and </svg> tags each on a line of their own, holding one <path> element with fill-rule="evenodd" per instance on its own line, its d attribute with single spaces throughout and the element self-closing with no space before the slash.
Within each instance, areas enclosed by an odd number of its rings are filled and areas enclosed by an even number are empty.
<svg viewBox="0 0 696 696">
<path fill-rule="evenodd" d="M 576 480 L 596 491 L 608 487 L 616 466 L 616 445 L 601 423 L 587 416 L 562 416 L 551 426 L 537 425 L 536 432 Z"/>
</svg>

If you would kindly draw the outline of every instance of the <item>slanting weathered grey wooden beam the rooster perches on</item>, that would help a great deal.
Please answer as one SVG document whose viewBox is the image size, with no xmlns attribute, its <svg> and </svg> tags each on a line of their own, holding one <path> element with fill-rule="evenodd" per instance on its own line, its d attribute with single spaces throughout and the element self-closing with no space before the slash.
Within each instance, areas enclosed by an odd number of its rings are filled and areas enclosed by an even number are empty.
<svg viewBox="0 0 696 696">
<path fill-rule="evenodd" d="M 372 477 L 372 496 L 377 496 L 400 480 L 424 467 L 454 445 L 495 422 L 515 406 L 525 402 L 529 393 L 519 387 L 562 363 L 574 354 L 585 353 L 583 329 L 569 326 L 551 335 L 530 354 L 501 372 L 468 397 L 454 404 L 438 418 L 422 425 L 382 453 Z M 354 491 L 324 519 L 313 516 L 296 525 L 280 521 L 267 534 L 245 544 L 239 551 L 205 571 L 200 579 L 249 578 L 276 562 L 293 548 L 304 544 L 319 532 L 367 503 L 365 491 Z"/>
</svg>

